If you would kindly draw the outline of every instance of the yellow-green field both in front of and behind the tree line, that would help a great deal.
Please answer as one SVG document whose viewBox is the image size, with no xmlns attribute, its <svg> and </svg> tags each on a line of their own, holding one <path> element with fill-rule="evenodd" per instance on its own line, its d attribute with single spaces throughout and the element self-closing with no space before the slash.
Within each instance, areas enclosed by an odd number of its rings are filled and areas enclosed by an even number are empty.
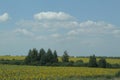
<svg viewBox="0 0 120 80">
<path fill-rule="evenodd" d="M 25 56 L 0 56 L 0 60 L 24 60 Z M 70 61 L 88 58 L 74 58 Z M 99 60 L 99 58 L 97 58 Z M 106 59 L 111 64 L 120 64 L 120 59 Z M 59 57 L 59 61 L 61 58 Z M 0 64 L 0 80 L 120 80 L 116 73 L 120 69 L 88 68 L 88 67 L 47 67 Z"/>
</svg>

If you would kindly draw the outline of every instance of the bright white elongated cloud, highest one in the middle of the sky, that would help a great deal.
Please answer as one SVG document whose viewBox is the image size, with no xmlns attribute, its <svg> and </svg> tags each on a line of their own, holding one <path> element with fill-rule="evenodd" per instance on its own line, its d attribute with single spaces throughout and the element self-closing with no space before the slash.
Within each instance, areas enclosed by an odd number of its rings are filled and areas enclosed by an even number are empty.
<svg viewBox="0 0 120 80">
<path fill-rule="evenodd" d="M 70 20 L 74 17 L 64 12 L 40 12 L 34 15 L 36 20 Z"/>
</svg>

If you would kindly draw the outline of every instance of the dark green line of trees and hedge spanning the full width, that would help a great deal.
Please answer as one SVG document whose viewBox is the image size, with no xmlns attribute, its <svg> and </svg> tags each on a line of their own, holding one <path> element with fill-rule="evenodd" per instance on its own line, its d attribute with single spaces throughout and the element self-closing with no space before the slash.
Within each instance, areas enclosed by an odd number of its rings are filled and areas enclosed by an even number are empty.
<svg viewBox="0 0 120 80">
<path fill-rule="evenodd" d="M 76 67 L 101 67 L 101 68 L 120 68 L 120 64 L 110 64 L 106 61 L 106 57 L 99 57 L 97 61 L 95 55 L 89 56 L 89 62 L 83 60 L 70 61 L 70 56 L 67 51 L 63 52 L 62 56 L 57 55 L 57 51 L 43 48 L 37 50 L 30 49 L 24 60 L 0 60 L 0 64 L 15 64 L 15 65 L 35 65 L 35 66 L 76 66 Z M 59 60 L 61 59 L 61 61 Z"/>
</svg>

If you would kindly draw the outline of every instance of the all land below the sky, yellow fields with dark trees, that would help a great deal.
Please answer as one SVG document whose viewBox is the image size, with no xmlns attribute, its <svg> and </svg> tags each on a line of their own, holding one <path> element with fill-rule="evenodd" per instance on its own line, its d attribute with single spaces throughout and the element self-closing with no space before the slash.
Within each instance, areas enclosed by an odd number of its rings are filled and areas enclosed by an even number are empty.
<svg viewBox="0 0 120 80">
<path fill-rule="evenodd" d="M 30 49 L 26 57 L 0 56 L 0 80 L 113 80 L 114 78 L 120 79 L 118 57 L 95 55 L 71 57 L 67 51 L 58 57 L 56 50 L 45 51 L 43 48 Z"/>
</svg>

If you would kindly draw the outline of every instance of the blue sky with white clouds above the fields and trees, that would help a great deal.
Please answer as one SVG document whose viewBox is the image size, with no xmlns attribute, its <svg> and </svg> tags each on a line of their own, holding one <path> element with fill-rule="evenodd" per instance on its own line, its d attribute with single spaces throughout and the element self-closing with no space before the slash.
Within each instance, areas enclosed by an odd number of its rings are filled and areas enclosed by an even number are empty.
<svg viewBox="0 0 120 80">
<path fill-rule="evenodd" d="M 0 55 L 48 48 L 120 56 L 120 0 L 0 0 Z"/>
</svg>

